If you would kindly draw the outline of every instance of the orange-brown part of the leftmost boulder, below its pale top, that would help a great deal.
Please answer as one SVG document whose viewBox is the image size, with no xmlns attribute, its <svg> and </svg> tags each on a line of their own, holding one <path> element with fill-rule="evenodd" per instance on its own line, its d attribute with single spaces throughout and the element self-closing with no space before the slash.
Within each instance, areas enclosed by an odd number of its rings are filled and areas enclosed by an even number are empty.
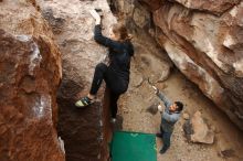
<svg viewBox="0 0 243 161">
<path fill-rule="evenodd" d="M 64 160 L 53 118 L 60 73 L 51 46 L 3 30 L 0 46 L 0 159 Z"/>
</svg>

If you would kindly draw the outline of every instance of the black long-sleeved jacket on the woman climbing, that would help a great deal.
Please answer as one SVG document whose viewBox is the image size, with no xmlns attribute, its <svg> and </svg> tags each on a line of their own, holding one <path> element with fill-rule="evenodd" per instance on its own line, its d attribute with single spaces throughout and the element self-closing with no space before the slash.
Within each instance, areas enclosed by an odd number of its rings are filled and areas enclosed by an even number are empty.
<svg viewBox="0 0 243 161">
<path fill-rule="evenodd" d="M 101 24 L 95 25 L 95 41 L 109 49 L 109 68 L 120 77 L 129 82 L 130 57 L 134 55 L 134 46 L 130 41 L 113 41 L 102 34 Z"/>
</svg>

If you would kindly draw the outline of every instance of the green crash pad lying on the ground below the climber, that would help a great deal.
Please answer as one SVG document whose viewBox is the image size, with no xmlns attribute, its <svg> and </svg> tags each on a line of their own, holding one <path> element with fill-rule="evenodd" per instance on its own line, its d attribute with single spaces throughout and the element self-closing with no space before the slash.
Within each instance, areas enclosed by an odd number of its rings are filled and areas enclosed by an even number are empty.
<svg viewBox="0 0 243 161">
<path fill-rule="evenodd" d="M 157 161 L 156 136 L 116 131 L 110 144 L 112 161 Z"/>
</svg>

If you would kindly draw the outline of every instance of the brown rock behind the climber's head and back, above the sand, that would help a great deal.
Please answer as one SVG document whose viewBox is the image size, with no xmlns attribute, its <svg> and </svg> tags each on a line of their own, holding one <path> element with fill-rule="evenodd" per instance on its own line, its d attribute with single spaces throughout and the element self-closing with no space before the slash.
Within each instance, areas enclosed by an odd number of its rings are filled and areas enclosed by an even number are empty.
<svg viewBox="0 0 243 161">
<path fill-rule="evenodd" d="M 141 1 L 139 1 L 141 2 Z M 161 2 L 155 2 L 155 6 Z M 150 3 L 144 1 L 142 4 Z M 135 46 L 135 58 L 131 63 L 131 85 L 138 87 L 147 78 L 152 83 L 162 82 L 168 78 L 172 62 L 163 50 L 157 44 L 155 30 L 152 29 L 151 14 L 138 1 L 110 1 L 110 6 L 118 12 L 120 21 L 125 21 L 130 33 L 133 33 L 133 43 Z M 152 7 L 156 8 L 156 7 Z M 137 64 L 134 66 L 134 64 Z"/>
</svg>

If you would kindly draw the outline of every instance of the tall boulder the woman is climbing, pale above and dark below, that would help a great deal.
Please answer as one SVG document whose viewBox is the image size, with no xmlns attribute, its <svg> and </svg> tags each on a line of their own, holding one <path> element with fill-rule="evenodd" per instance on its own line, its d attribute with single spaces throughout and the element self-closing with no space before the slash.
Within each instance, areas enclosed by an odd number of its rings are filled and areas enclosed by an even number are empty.
<svg viewBox="0 0 243 161">
<path fill-rule="evenodd" d="M 103 160 L 102 157 L 106 154 L 103 148 L 107 148 L 108 143 L 103 140 L 107 138 L 107 132 L 104 131 L 107 121 L 102 120 L 109 119 L 109 116 L 103 110 L 101 103 L 76 109 L 74 101 L 87 95 L 95 66 L 107 53 L 93 39 L 95 21 L 89 10 L 101 8 L 104 11 L 103 33 L 107 36 L 116 19 L 106 0 L 40 0 L 38 3 L 54 31 L 63 58 L 63 80 L 57 103 L 59 133 L 65 142 L 66 160 Z M 99 90 L 101 100 L 103 94 L 104 88 Z"/>
</svg>

